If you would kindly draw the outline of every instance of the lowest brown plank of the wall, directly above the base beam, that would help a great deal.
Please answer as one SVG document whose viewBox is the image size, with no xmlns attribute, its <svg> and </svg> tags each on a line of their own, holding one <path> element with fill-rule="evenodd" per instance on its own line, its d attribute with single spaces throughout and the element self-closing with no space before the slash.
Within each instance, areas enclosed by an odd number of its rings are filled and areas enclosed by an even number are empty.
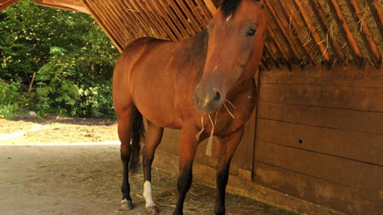
<svg viewBox="0 0 383 215">
<path fill-rule="evenodd" d="M 287 192 L 294 197 L 337 208 L 347 214 L 380 215 L 383 213 L 382 199 L 371 197 L 371 193 L 363 189 L 350 188 L 262 162 L 256 163 L 255 173 L 255 180 L 261 184 L 277 191 Z"/>
</svg>

